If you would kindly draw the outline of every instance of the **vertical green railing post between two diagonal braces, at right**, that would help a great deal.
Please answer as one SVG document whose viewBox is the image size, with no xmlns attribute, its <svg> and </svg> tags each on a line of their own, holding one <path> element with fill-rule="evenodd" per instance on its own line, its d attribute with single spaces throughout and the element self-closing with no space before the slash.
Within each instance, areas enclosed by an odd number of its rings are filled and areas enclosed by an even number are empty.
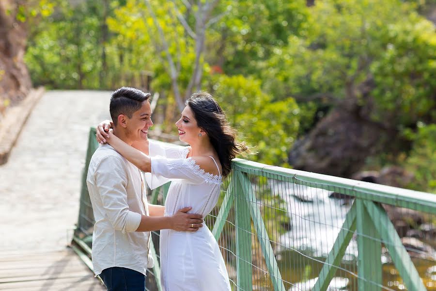
<svg viewBox="0 0 436 291">
<path fill-rule="evenodd" d="M 361 199 L 357 206 L 358 288 L 359 291 L 380 291 L 382 286 L 380 235 Z M 381 222 L 382 223 L 382 222 Z M 377 286 L 378 284 L 378 286 Z"/>
</svg>

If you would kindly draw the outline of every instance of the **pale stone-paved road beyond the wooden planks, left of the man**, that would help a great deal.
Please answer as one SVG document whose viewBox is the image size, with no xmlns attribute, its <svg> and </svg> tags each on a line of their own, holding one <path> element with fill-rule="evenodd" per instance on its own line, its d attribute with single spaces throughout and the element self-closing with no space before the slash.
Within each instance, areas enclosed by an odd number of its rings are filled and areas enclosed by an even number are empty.
<svg viewBox="0 0 436 291">
<path fill-rule="evenodd" d="M 35 106 L 0 166 L 0 251 L 65 247 L 77 222 L 89 128 L 109 118 L 109 97 L 48 91 Z"/>
</svg>

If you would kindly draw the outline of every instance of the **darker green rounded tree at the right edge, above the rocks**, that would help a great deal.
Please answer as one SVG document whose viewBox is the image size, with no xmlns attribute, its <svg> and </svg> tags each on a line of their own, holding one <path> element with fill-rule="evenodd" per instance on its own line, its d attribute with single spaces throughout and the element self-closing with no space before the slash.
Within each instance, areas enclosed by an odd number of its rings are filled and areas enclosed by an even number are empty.
<svg viewBox="0 0 436 291">
<path fill-rule="evenodd" d="M 412 13 L 388 26 L 386 48 L 373 63 L 378 106 L 375 119 L 389 115 L 398 124 L 414 124 L 436 108 L 436 33 L 432 23 Z M 430 97 L 430 98 L 429 98 Z M 388 113 L 388 116 L 387 114 Z"/>
</svg>

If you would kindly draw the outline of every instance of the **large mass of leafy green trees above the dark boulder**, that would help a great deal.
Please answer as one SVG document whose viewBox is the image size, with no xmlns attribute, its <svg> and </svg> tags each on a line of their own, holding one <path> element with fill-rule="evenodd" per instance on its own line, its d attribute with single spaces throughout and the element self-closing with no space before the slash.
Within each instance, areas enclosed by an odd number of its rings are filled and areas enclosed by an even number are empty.
<svg viewBox="0 0 436 291">
<path fill-rule="evenodd" d="M 262 74 L 268 94 L 327 110 L 372 106 L 369 118 L 392 130 L 434 120 L 436 33 L 412 4 L 325 0 L 310 11 L 307 35 L 273 50 Z"/>
</svg>

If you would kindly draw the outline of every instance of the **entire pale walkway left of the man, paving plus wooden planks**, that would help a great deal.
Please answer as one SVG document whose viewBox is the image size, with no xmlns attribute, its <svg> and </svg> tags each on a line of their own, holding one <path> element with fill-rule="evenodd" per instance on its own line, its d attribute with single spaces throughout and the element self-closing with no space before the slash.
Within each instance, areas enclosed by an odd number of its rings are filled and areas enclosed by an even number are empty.
<svg viewBox="0 0 436 291">
<path fill-rule="evenodd" d="M 0 166 L 0 290 L 104 290 L 66 248 L 77 223 L 90 125 L 110 92 L 48 91 Z"/>
</svg>

